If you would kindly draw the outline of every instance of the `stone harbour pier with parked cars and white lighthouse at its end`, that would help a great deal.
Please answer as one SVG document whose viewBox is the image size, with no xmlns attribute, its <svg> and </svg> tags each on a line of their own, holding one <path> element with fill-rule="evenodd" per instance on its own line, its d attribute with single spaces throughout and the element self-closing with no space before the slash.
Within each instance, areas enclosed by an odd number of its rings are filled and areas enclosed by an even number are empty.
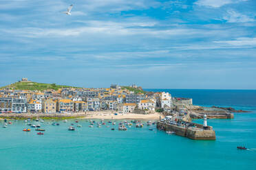
<svg viewBox="0 0 256 170">
<path fill-rule="evenodd" d="M 187 127 L 186 125 L 189 125 L 189 127 Z M 198 123 L 182 121 L 182 125 L 173 125 L 168 122 L 158 121 L 157 128 L 158 130 L 175 132 L 176 135 L 191 138 L 193 140 L 216 139 L 213 127 L 203 127 L 203 125 Z"/>
</svg>

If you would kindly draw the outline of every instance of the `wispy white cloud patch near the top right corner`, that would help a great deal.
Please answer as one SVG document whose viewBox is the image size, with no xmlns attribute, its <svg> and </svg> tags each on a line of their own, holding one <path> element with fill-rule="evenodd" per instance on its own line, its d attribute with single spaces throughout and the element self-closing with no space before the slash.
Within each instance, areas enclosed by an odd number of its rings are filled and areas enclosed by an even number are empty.
<svg viewBox="0 0 256 170">
<path fill-rule="evenodd" d="M 245 14 L 240 14 L 234 10 L 228 10 L 227 15 L 223 17 L 228 23 L 248 23 L 255 21 L 253 17 L 247 16 Z"/>
</svg>

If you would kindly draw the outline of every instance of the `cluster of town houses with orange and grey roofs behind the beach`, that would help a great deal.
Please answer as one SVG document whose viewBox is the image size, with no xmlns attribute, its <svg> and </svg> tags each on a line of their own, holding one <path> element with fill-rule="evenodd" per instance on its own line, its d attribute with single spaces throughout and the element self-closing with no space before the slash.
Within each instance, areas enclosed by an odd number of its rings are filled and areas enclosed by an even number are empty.
<svg viewBox="0 0 256 170">
<path fill-rule="evenodd" d="M 61 88 L 58 90 L 0 90 L 0 112 L 13 113 L 67 113 L 115 110 L 120 113 L 169 112 L 184 100 L 172 98 L 169 93 L 134 93 L 125 87 Z M 175 105 L 173 105 L 175 104 Z M 192 105 L 191 99 L 186 104 Z"/>
</svg>

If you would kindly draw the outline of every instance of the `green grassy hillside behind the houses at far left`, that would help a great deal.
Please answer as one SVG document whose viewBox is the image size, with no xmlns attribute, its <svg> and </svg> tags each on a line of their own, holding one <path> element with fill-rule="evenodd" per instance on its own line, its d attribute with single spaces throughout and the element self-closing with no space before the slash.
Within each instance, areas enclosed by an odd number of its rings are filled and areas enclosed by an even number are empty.
<svg viewBox="0 0 256 170">
<path fill-rule="evenodd" d="M 56 84 L 45 84 L 37 82 L 16 82 L 8 86 L 3 86 L 0 89 L 8 88 L 12 90 L 58 90 L 59 88 L 78 88 L 72 86 L 63 86 Z"/>
</svg>

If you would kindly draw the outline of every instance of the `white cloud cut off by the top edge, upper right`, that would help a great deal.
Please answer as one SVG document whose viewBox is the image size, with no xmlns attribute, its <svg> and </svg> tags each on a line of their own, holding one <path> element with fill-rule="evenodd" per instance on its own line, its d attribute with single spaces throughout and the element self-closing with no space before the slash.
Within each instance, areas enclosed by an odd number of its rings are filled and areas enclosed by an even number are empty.
<svg viewBox="0 0 256 170">
<path fill-rule="evenodd" d="M 239 3 L 241 1 L 247 0 L 198 0 L 195 2 L 195 4 L 200 6 L 208 6 L 211 8 L 220 8 L 223 5 L 227 5 L 230 3 Z"/>
</svg>

